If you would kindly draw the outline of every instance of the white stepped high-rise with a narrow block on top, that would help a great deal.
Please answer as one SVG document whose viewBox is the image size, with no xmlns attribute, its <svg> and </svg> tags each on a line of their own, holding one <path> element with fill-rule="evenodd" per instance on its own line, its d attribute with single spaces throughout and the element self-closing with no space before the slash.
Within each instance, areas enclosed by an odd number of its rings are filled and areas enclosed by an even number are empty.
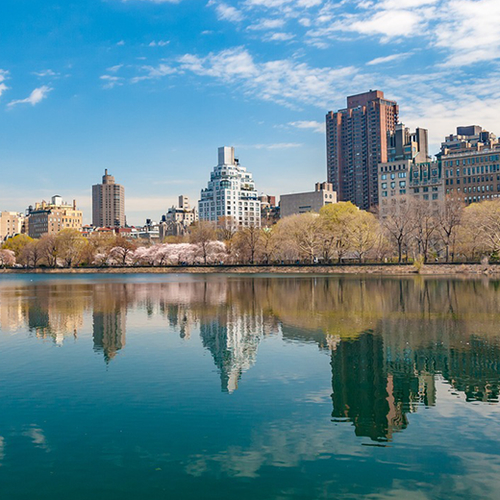
<svg viewBox="0 0 500 500">
<path fill-rule="evenodd" d="M 260 201 L 252 174 L 240 166 L 233 147 L 219 148 L 219 164 L 201 190 L 200 220 L 217 222 L 221 217 L 235 226 L 260 227 Z"/>
</svg>

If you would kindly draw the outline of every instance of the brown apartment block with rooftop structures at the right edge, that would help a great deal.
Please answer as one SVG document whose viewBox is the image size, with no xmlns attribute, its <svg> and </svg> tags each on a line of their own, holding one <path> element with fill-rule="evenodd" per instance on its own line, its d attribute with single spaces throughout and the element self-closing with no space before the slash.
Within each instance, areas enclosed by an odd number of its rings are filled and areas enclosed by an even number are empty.
<svg viewBox="0 0 500 500">
<path fill-rule="evenodd" d="M 500 144 L 494 134 L 478 126 L 458 127 L 438 157 L 447 195 L 467 205 L 500 196 Z"/>
</svg>

